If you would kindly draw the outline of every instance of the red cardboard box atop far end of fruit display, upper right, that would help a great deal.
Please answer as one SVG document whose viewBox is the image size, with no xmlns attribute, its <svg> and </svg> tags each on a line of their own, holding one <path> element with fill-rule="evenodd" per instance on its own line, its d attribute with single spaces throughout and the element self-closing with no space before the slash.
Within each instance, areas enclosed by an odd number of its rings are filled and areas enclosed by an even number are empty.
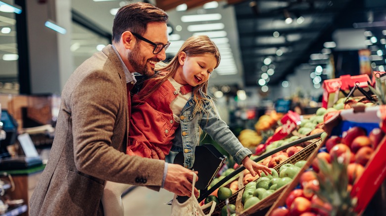
<svg viewBox="0 0 386 216">
<path fill-rule="evenodd" d="M 339 98 L 344 97 L 344 95 L 339 91 L 339 88 L 348 92 L 350 88 L 358 84 L 359 87 L 368 91 L 369 88 L 367 82 L 371 82 L 370 77 L 367 74 L 356 76 L 341 75 L 339 78 L 324 80 L 322 107 L 330 108 L 338 101 Z M 362 94 L 355 91 L 353 96 L 362 96 Z"/>
</svg>

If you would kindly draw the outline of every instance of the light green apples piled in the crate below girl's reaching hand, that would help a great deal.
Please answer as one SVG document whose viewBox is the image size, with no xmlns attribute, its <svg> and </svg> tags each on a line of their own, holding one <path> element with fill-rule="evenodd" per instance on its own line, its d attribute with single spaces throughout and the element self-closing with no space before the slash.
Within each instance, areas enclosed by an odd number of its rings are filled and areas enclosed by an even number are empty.
<svg viewBox="0 0 386 216">
<path fill-rule="evenodd" d="M 254 206 L 265 197 L 274 193 L 275 190 L 291 182 L 305 163 L 306 161 L 301 160 L 295 164 L 283 164 L 279 169 L 279 173 L 275 169 L 270 168 L 272 174 L 267 176 L 261 173 L 261 177 L 256 181 L 247 183 L 241 197 L 243 209 L 246 210 Z"/>
</svg>

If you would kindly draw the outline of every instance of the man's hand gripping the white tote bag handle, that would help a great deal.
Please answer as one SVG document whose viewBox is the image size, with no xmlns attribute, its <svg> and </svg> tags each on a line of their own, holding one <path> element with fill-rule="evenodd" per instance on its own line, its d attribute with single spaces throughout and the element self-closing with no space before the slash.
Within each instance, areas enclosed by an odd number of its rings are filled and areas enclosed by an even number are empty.
<svg viewBox="0 0 386 216">
<path fill-rule="evenodd" d="M 198 172 L 194 172 L 198 174 Z M 198 177 L 197 179 L 198 180 Z M 168 164 L 165 184 L 163 188 L 178 196 L 192 196 L 193 171 L 178 164 Z M 197 188 L 194 187 L 194 195 L 198 197 Z"/>
</svg>

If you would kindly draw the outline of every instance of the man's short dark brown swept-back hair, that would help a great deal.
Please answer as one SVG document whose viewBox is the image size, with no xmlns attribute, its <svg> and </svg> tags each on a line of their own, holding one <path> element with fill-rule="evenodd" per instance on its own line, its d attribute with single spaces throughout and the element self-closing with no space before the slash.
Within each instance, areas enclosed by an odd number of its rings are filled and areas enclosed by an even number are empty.
<svg viewBox="0 0 386 216">
<path fill-rule="evenodd" d="M 119 42 L 122 33 L 131 31 L 140 35 L 151 22 L 167 23 L 168 15 L 158 7 L 144 2 L 131 3 L 119 8 L 113 22 L 113 41 Z"/>
</svg>

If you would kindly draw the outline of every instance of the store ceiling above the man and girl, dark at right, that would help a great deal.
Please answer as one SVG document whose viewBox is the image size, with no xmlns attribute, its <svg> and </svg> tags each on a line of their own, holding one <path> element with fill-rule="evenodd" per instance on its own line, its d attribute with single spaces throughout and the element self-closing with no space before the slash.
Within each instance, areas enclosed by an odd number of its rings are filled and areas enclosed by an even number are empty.
<svg viewBox="0 0 386 216">
<path fill-rule="evenodd" d="M 138 0 L 71 0 L 76 12 L 110 34 L 114 18 L 110 10 L 136 1 Z M 354 22 L 366 24 L 374 21 L 381 23 L 379 28 L 386 26 L 385 0 L 223 0 L 218 1 L 217 8 L 203 9 L 202 5 L 209 1 L 149 0 L 150 3 L 158 3 L 169 14 L 173 34 L 180 37 L 172 41 L 175 47 L 179 47 L 183 40 L 196 33 L 188 31 L 189 25 L 220 21 L 224 24 L 224 29 L 218 31 L 225 31 L 227 39 L 213 38 L 215 42 L 221 43 L 218 44 L 220 53 L 224 53 L 220 64 L 223 67 L 219 67 L 210 81 L 215 85 L 237 85 L 241 88 L 259 86 L 258 80 L 268 69 L 274 70 L 269 79 L 266 79 L 269 80 L 268 85 L 281 84 L 287 75 L 297 70 L 303 70 L 304 75 L 309 76 L 316 67 L 315 61 L 310 60 L 310 54 L 321 53 L 323 43 L 332 40 L 335 30 L 352 29 Z M 187 4 L 186 11 L 176 10 L 176 6 L 181 3 Z M 201 22 L 181 20 L 184 15 L 213 13 L 221 14 L 221 19 Z M 291 16 L 292 23 L 286 24 L 285 16 Z M 297 19 L 299 17 L 302 18 Z M 181 31 L 176 29 L 177 26 L 181 27 Z M 278 35 L 275 37 L 274 33 Z M 97 51 L 90 46 L 92 42 L 89 39 L 95 36 L 87 36 L 88 33 L 80 32 L 79 28 L 74 28 L 73 34 L 90 47 L 89 51 L 79 49 L 84 54 Z M 2 41 L 5 42 L 1 39 L 0 43 Z M 4 44 L 0 45 L 0 48 L 3 46 Z M 172 47 L 171 45 L 169 48 L 169 56 L 173 55 Z M 231 57 L 229 53 L 232 53 Z M 263 61 L 267 57 L 272 62 L 264 67 Z M 316 63 L 323 64 L 324 61 L 319 60 Z M 231 70 L 232 68 L 235 70 Z M 232 74 L 233 72 L 235 73 Z"/>
</svg>

